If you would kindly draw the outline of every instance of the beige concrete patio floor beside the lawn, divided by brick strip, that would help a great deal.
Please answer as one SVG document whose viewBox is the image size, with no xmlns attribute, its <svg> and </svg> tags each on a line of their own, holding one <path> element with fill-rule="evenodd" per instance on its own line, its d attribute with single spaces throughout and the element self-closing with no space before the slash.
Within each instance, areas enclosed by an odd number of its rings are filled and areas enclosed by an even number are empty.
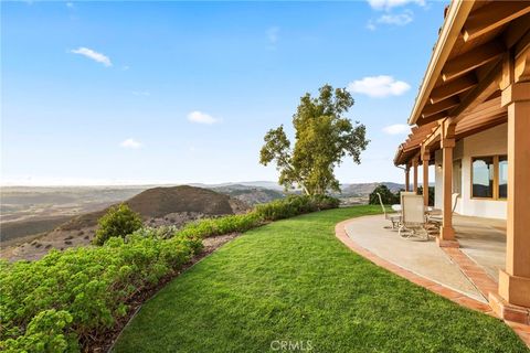
<svg viewBox="0 0 530 353">
<path fill-rule="evenodd" d="M 502 223 L 458 215 L 454 222 L 462 250 L 496 279 L 498 268 L 505 266 L 506 236 L 501 231 Z M 346 232 L 361 247 L 389 263 L 487 302 L 487 298 L 434 239 L 405 239 L 396 231 L 389 229 L 389 225 L 383 215 L 365 216 L 351 220 Z"/>
</svg>

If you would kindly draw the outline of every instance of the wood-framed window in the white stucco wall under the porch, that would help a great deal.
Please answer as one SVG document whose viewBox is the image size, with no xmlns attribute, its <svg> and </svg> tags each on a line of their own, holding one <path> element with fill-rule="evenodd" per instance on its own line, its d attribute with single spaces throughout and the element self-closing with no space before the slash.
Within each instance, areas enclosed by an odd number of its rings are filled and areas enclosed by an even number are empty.
<svg viewBox="0 0 530 353">
<path fill-rule="evenodd" d="M 471 197 L 506 199 L 508 188 L 507 156 L 471 159 Z"/>
</svg>

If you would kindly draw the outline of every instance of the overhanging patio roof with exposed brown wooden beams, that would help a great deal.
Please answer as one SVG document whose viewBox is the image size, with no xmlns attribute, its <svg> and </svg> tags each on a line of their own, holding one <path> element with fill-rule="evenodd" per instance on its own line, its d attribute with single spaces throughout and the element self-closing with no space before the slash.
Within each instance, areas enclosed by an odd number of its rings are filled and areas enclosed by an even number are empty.
<svg viewBox="0 0 530 353">
<path fill-rule="evenodd" d="M 517 62 L 530 45 L 530 2 L 453 1 L 445 14 L 396 165 L 409 164 L 422 145 L 438 148 L 444 120 L 455 126 L 456 139 L 507 121 L 500 85 L 510 77 L 502 68 L 511 63 L 507 56 Z"/>
</svg>

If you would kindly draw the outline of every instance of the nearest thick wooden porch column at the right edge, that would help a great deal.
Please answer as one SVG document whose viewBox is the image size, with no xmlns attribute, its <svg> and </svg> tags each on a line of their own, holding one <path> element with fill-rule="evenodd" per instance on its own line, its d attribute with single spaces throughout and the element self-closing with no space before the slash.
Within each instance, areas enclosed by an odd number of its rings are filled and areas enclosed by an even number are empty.
<svg viewBox="0 0 530 353">
<path fill-rule="evenodd" d="M 499 272 L 499 295 L 530 308 L 530 53 L 528 81 L 502 90 L 508 107 L 508 218 L 506 270 Z"/>
</svg>

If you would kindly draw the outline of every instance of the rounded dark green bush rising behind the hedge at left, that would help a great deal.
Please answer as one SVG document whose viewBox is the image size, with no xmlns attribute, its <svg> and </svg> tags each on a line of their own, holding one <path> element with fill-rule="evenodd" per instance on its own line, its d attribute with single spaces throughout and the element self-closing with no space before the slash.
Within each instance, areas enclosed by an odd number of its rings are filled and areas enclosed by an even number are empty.
<svg viewBox="0 0 530 353">
<path fill-rule="evenodd" d="M 108 238 L 118 236 L 125 237 L 141 227 L 140 215 L 129 208 L 126 204 L 110 207 L 108 212 L 99 218 L 95 245 L 103 245 Z"/>
</svg>

